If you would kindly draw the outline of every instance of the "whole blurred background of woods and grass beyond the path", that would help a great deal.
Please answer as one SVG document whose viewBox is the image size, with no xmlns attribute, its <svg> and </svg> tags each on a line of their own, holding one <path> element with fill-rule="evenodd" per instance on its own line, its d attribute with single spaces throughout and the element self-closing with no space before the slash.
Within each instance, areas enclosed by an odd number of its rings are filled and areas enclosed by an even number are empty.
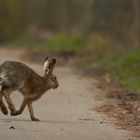
<svg viewBox="0 0 140 140">
<path fill-rule="evenodd" d="M 0 0 L 0 44 L 56 55 L 140 88 L 139 0 Z M 50 53 L 51 52 L 51 53 Z"/>
</svg>

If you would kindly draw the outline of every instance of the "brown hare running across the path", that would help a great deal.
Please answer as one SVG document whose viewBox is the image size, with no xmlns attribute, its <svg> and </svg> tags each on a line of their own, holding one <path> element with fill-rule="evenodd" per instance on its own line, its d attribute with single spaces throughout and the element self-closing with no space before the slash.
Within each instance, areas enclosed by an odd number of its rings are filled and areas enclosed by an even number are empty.
<svg viewBox="0 0 140 140">
<path fill-rule="evenodd" d="M 56 64 L 54 58 L 46 58 L 44 63 L 44 75 L 41 77 L 27 65 L 17 61 L 6 61 L 0 65 L 0 108 L 7 115 L 8 110 L 3 102 L 3 95 L 11 111 L 11 115 L 19 115 L 28 105 L 32 121 L 35 118 L 32 103 L 39 99 L 47 90 L 56 89 L 59 86 L 53 70 Z M 10 98 L 10 94 L 18 90 L 24 95 L 20 109 L 17 111 Z"/>
</svg>

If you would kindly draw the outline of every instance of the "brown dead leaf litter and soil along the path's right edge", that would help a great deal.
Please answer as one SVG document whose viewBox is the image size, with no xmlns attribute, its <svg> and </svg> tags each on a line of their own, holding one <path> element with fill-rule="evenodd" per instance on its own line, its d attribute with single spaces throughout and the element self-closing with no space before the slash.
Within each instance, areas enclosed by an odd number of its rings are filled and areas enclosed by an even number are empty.
<svg viewBox="0 0 140 140">
<path fill-rule="evenodd" d="M 102 79 L 100 83 L 100 88 L 106 91 L 106 102 L 96 110 L 115 118 L 116 125 L 140 137 L 140 96 L 134 90 L 112 84 L 110 80 Z"/>
</svg>

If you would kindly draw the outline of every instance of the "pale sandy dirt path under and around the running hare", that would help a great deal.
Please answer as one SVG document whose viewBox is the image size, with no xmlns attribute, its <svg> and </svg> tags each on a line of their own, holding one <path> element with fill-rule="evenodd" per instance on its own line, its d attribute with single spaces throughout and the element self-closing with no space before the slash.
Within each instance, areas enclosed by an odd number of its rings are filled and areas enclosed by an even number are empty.
<svg viewBox="0 0 140 140">
<path fill-rule="evenodd" d="M 0 49 L 0 63 L 19 60 L 21 53 Z M 28 65 L 43 73 L 42 64 Z M 100 103 L 95 98 L 101 92 L 95 80 L 83 78 L 69 67 L 56 67 L 55 73 L 59 77 L 59 89 L 49 91 L 33 104 L 41 121 L 30 121 L 27 108 L 16 117 L 0 112 L 1 140 L 137 140 L 127 131 L 115 128 L 104 115 L 91 110 Z M 19 108 L 22 96 L 15 92 L 12 97 Z"/>
</svg>

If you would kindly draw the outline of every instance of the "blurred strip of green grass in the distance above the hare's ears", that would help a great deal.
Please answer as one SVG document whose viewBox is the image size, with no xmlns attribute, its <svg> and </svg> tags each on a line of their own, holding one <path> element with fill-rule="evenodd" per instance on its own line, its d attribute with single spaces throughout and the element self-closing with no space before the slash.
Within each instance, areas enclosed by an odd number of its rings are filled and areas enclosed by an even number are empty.
<svg viewBox="0 0 140 140">
<path fill-rule="evenodd" d="M 86 35 L 58 34 L 48 38 L 46 41 L 40 41 L 37 38 L 28 36 L 17 37 L 11 41 L 11 44 L 13 47 L 36 48 L 42 51 L 79 51 L 85 47 L 86 41 Z"/>
</svg>

